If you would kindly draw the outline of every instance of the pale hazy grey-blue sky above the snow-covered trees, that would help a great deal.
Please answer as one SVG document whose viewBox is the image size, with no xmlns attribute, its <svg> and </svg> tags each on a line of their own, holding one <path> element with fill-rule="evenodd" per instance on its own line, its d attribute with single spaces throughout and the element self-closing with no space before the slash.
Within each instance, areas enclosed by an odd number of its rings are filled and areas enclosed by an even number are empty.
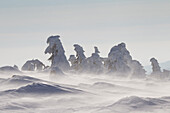
<svg viewBox="0 0 170 113">
<path fill-rule="evenodd" d="M 46 39 L 61 35 L 67 58 L 73 44 L 86 56 L 98 46 L 106 57 L 125 42 L 134 59 L 170 60 L 169 0 L 0 0 L 0 66 L 33 58 L 46 64 Z"/>
</svg>

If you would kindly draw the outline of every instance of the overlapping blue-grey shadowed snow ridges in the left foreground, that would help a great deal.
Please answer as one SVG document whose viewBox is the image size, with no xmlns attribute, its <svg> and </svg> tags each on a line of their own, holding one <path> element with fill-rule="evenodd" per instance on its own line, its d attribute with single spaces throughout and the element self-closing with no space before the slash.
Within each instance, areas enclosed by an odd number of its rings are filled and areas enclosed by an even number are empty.
<svg viewBox="0 0 170 113">
<path fill-rule="evenodd" d="M 11 78 L 4 80 L 2 83 L 7 82 L 9 84 L 22 84 L 17 89 L 2 91 L 0 94 L 65 94 L 65 93 L 78 93 L 81 90 L 69 88 L 65 86 L 60 86 L 56 83 L 44 81 L 41 79 L 29 77 L 29 76 L 19 76 L 13 75 Z"/>
</svg>

